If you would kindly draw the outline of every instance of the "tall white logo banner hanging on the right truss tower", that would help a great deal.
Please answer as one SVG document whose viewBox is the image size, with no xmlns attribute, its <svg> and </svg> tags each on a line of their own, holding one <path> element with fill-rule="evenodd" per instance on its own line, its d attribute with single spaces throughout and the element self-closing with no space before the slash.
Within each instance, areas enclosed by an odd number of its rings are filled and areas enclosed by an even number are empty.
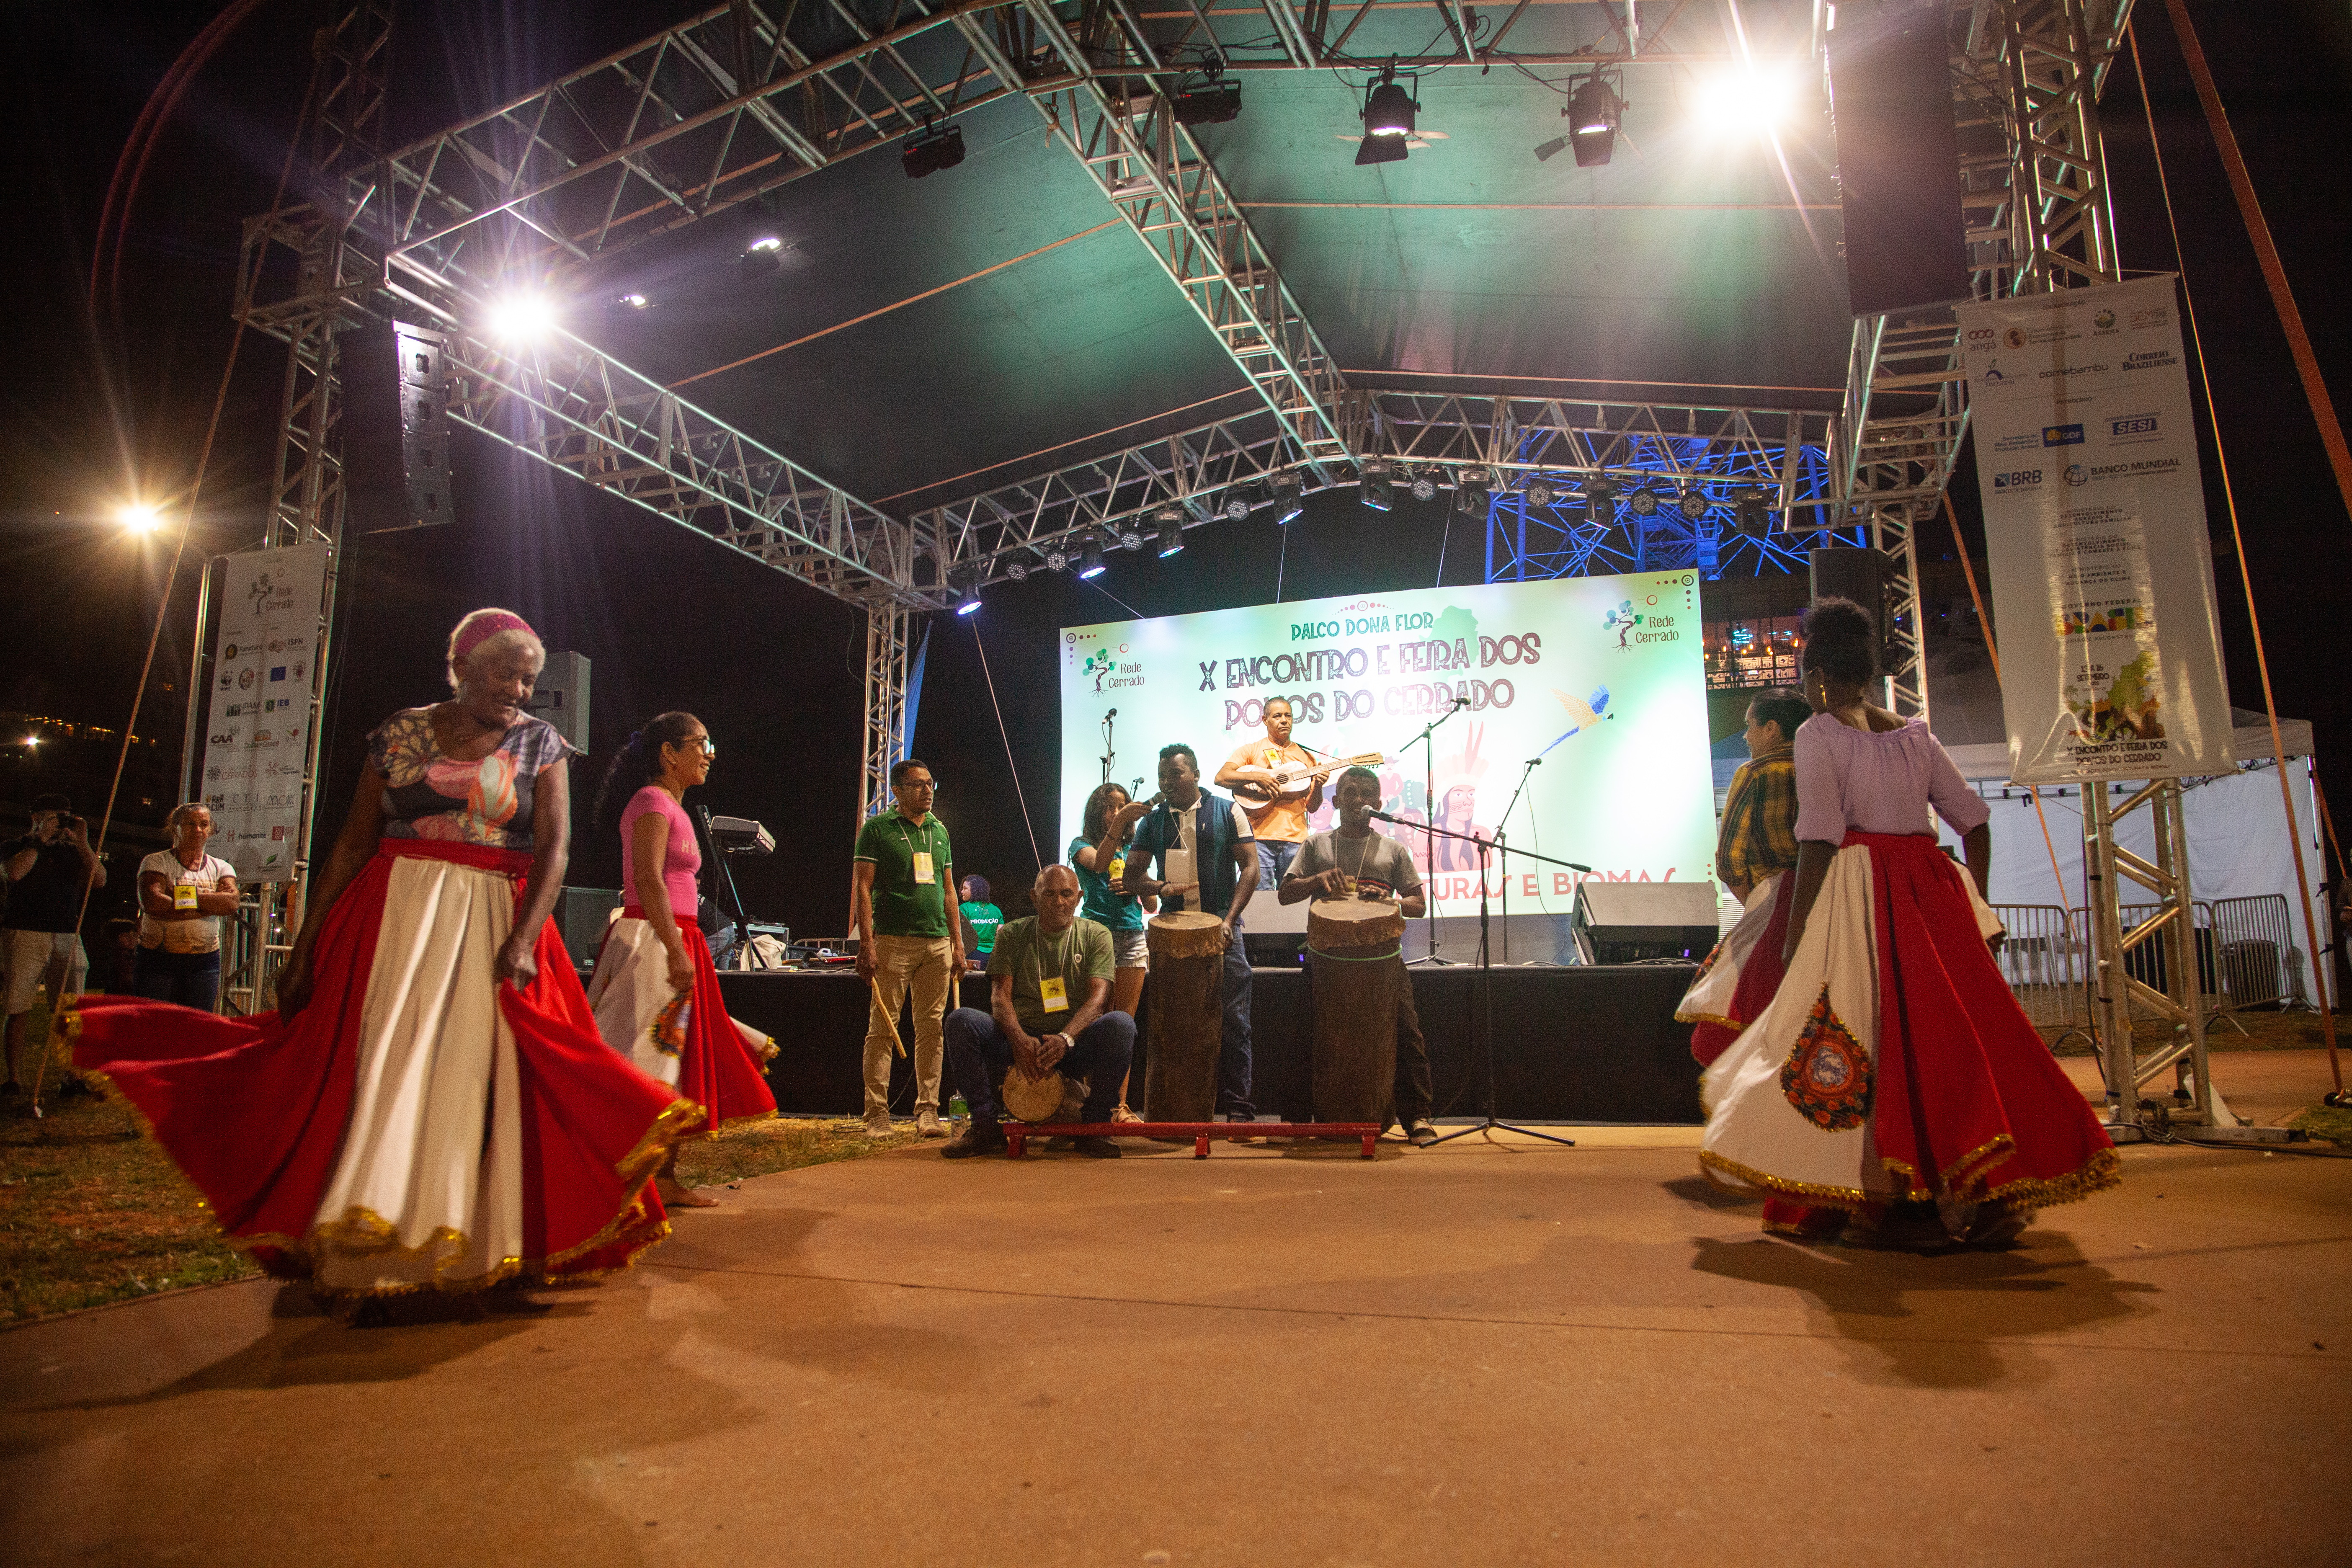
<svg viewBox="0 0 2352 1568">
<path fill-rule="evenodd" d="M 1962 306 L 2009 776 L 2227 773 L 2173 280 Z"/>
</svg>

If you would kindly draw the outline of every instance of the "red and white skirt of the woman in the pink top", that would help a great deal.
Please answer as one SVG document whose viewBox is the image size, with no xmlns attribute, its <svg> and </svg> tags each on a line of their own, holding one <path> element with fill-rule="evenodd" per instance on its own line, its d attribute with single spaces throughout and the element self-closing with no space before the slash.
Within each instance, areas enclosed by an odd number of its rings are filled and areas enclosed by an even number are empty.
<svg viewBox="0 0 2352 1568">
<path fill-rule="evenodd" d="M 680 922 L 677 936 L 694 964 L 694 987 L 682 999 L 670 990 L 668 954 L 644 910 L 621 910 L 621 919 L 604 931 L 588 1006 L 607 1046 L 710 1112 L 689 1135 L 713 1138 L 739 1121 L 776 1114 L 776 1095 L 762 1072 L 776 1056 L 776 1041 L 727 1016 L 703 933 Z"/>
</svg>

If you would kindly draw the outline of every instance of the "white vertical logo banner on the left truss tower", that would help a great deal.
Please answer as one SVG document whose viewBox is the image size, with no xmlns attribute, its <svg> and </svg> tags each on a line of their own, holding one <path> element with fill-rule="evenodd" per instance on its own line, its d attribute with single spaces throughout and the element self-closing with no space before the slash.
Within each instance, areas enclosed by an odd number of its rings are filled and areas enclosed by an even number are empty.
<svg viewBox="0 0 2352 1568">
<path fill-rule="evenodd" d="M 228 557 L 200 799 L 247 886 L 294 879 L 325 592 L 327 545 Z"/>
</svg>

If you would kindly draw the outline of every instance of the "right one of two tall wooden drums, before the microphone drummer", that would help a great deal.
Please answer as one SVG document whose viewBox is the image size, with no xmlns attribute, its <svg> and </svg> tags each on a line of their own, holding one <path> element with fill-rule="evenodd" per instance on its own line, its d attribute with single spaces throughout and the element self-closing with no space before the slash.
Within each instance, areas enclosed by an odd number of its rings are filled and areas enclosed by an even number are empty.
<svg viewBox="0 0 2352 1568">
<path fill-rule="evenodd" d="M 1308 905 L 1308 976 L 1315 983 L 1315 1114 L 1378 1121 L 1397 1105 L 1397 987 L 1404 910 L 1359 898 Z"/>
</svg>

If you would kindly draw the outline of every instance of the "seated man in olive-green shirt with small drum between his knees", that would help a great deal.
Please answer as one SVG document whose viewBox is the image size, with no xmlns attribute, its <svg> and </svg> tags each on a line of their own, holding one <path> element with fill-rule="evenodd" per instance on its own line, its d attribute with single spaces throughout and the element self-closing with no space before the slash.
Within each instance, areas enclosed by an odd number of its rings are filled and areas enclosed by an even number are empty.
<svg viewBox="0 0 2352 1568">
<path fill-rule="evenodd" d="M 1110 931 L 1077 917 L 1077 875 L 1068 865 L 1037 872 L 1030 900 L 1037 914 L 997 926 L 988 952 L 988 1011 L 948 1013 L 948 1072 L 971 1107 L 971 1126 L 941 1154 L 971 1159 L 1004 1150 L 997 1086 L 1007 1072 L 1037 1084 L 1058 1072 L 1087 1081 L 1082 1121 L 1110 1121 L 1136 1053 L 1136 1020 L 1105 1013 L 1110 999 Z M 1051 1112 L 1047 1112 L 1051 1114 Z M 1110 1138 L 1077 1138 L 1094 1159 L 1117 1159 Z"/>
</svg>

